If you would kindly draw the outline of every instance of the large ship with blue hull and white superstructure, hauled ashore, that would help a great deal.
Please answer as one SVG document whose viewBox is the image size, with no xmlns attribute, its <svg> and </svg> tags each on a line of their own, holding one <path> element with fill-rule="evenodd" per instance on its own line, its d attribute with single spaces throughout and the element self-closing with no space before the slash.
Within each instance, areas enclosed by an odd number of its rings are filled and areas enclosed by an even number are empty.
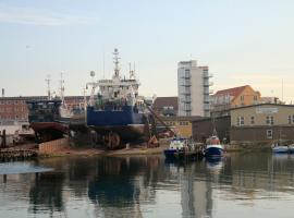
<svg viewBox="0 0 294 218">
<path fill-rule="evenodd" d="M 87 125 L 98 133 L 109 148 L 150 137 L 149 114 L 144 99 L 138 96 L 139 82 L 135 71 L 130 69 L 128 78 L 121 76 L 118 49 L 114 49 L 113 56 L 112 80 L 87 84 L 93 87 L 87 106 Z M 97 87 L 99 90 L 96 94 Z"/>
</svg>

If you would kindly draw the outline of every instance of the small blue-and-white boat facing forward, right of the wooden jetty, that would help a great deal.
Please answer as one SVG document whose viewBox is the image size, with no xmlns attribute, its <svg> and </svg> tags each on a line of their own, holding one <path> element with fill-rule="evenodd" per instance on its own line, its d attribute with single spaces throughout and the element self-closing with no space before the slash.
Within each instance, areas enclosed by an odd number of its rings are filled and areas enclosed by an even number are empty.
<svg viewBox="0 0 294 218">
<path fill-rule="evenodd" d="M 206 157 L 221 157 L 223 156 L 223 147 L 220 144 L 220 140 L 217 135 L 212 135 L 206 141 L 205 147 Z"/>
</svg>

